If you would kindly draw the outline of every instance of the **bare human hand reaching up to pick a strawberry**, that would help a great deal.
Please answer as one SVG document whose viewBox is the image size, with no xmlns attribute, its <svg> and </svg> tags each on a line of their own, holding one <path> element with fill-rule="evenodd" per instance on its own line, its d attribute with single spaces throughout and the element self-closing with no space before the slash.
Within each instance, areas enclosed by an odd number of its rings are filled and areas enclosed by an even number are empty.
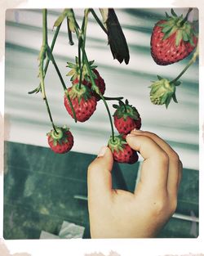
<svg viewBox="0 0 204 256">
<path fill-rule="evenodd" d="M 112 188 L 113 155 L 100 150 L 88 168 L 91 238 L 155 237 L 175 213 L 182 163 L 175 151 L 151 132 L 126 136 L 144 158 L 135 192 Z"/>
</svg>

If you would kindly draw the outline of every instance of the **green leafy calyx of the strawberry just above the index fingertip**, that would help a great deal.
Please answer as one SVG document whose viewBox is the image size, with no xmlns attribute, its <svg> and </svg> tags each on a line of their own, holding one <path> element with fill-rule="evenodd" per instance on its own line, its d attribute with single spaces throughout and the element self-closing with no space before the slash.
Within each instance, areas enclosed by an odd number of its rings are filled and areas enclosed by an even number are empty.
<svg viewBox="0 0 204 256">
<path fill-rule="evenodd" d="M 127 100 L 125 103 L 119 101 L 119 105 L 113 104 L 113 108 L 116 109 L 113 116 L 117 116 L 118 119 L 123 118 L 125 121 L 128 117 L 135 120 L 140 119 L 140 114 L 136 110 L 135 106 L 131 106 Z"/>
</svg>

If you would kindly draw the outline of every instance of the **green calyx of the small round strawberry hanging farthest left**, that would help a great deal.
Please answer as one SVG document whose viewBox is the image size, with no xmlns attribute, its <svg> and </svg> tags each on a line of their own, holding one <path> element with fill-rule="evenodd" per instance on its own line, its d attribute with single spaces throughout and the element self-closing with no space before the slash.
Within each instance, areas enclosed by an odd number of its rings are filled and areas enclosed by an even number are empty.
<svg viewBox="0 0 204 256">
<path fill-rule="evenodd" d="M 56 132 L 55 132 L 56 130 Z M 50 138 L 50 141 L 53 142 L 53 146 L 57 146 L 58 144 L 62 145 L 68 142 L 68 136 L 66 132 L 69 131 L 69 128 L 64 125 L 63 127 L 55 127 L 55 130 L 51 130 L 51 132 L 47 132 L 47 136 Z"/>
</svg>

